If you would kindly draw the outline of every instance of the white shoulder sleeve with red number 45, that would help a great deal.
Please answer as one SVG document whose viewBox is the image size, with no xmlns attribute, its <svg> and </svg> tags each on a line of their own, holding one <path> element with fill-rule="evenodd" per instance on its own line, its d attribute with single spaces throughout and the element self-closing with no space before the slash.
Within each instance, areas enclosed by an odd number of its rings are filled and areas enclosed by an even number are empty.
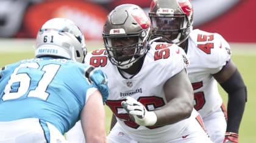
<svg viewBox="0 0 256 143">
<path fill-rule="evenodd" d="M 209 73 L 218 73 L 230 60 L 230 46 L 218 33 L 208 33 L 196 29 L 190 33 L 190 40 L 188 53 L 193 56 L 191 59 L 194 60 L 193 62 L 198 62 L 201 67 L 207 68 L 204 70 Z"/>
</svg>

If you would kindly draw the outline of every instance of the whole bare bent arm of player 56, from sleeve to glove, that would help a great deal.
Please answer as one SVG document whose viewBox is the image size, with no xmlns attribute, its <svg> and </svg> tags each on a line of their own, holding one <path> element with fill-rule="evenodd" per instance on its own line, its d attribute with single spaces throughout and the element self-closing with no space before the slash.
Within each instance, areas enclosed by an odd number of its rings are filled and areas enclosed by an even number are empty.
<svg viewBox="0 0 256 143">
<path fill-rule="evenodd" d="M 155 125 L 168 125 L 190 117 L 194 94 L 185 68 L 170 78 L 164 85 L 166 105 L 155 110 Z"/>
</svg>

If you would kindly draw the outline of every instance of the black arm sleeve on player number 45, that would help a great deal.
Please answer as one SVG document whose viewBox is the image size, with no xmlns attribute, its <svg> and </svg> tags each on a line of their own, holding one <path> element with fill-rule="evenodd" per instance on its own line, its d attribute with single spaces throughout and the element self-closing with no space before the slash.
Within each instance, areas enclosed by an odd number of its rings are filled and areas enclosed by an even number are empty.
<svg viewBox="0 0 256 143">
<path fill-rule="evenodd" d="M 243 78 L 238 70 L 221 84 L 221 87 L 229 94 L 227 104 L 227 132 L 238 133 L 247 101 L 247 90 Z"/>
</svg>

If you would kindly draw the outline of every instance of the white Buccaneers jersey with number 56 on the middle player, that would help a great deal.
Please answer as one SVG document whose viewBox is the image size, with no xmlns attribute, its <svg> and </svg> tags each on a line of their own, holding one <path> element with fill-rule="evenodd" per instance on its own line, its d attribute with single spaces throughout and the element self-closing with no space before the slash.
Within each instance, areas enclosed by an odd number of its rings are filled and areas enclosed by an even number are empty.
<svg viewBox="0 0 256 143">
<path fill-rule="evenodd" d="M 166 104 L 163 85 L 183 68 L 187 67 L 188 59 L 182 48 L 175 44 L 154 42 L 146 54 L 143 67 L 130 79 L 124 78 L 118 68 L 108 61 L 104 48 L 88 53 L 85 64 L 101 67 L 108 76 L 110 95 L 107 105 L 113 111 L 121 128 L 131 138 L 137 141 L 158 142 L 182 136 L 182 132 L 190 122 L 190 118 L 196 118 L 198 113 L 180 122 L 162 127 L 144 127 L 133 122 L 127 115 L 121 102 L 127 96 L 137 99 L 151 111 L 163 107 Z"/>
</svg>

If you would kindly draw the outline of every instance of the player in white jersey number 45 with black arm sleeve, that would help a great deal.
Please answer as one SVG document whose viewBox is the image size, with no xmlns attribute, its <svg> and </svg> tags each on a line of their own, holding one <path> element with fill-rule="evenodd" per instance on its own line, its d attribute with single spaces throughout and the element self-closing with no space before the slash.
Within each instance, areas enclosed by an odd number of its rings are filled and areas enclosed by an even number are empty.
<svg viewBox="0 0 256 143">
<path fill-rule="evenodd" d="M 194 88 L 194 108 L 214 142 L 238 142 L 238 129 L 247 100 L 246 85 L 230 58 L 227 41 L 218 33 L 193 30 L 190 0 L 154 0 L 149 17 L 152 39 L 175 43 L 190 59 L 188 77 Z M 227 115 L 217 82 L 229 94 Z M 227 122 L 226 122 L 227 120 Z"/>
</svg>

